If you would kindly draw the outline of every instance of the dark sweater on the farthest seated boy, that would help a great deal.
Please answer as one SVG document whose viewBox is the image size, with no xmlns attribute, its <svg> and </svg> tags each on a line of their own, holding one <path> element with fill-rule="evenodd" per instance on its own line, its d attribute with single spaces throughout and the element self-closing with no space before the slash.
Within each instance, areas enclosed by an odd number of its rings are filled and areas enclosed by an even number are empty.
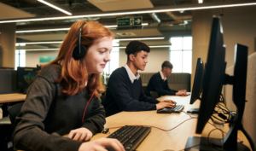
<svg viewBox="0 0 256 151">
<path fill-rule="evenodd" d="M 158 96 L 175 95 L 177 90 L 171 90 L 168 81 L 161 78 L 160 72 L 155 73 L 148 82 L 146 95 L 150 95 L 150 91 L 156 91 Z"/>
</svg>

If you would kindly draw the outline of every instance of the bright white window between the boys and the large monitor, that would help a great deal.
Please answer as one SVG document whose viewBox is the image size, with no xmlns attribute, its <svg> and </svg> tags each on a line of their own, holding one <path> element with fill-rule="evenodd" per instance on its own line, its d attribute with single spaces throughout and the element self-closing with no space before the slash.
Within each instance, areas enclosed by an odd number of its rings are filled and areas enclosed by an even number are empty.
<svg viewBox="0 0 256 151">
<path fill-rule="evenodd" d="M 192 37 L 170 39 L 170 62 L 172 73 L 191 73 L 192 70 Z"/>
</svg>

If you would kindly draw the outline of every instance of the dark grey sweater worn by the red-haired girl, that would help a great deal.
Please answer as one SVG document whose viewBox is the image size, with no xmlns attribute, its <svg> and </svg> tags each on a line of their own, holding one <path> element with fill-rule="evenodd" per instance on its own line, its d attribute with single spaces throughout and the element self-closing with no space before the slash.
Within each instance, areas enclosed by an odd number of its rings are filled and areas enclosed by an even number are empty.
<svg viewBox="0 0 256 151">
<path fill-rule="evenodd" d="M 86 91 L 74 96 L 63 96 L 60 78 L 61 67 L 49 65 L 38 73 L 30 85 L 26 101 L 16 118 L 13 141 L 22 150 L 75 150 L 82 142 L 63 137 L 71 130 L 85 127 L 93 134 L 105 125 L 105 111 L 99 98 L 90 101 L 84 121 L 84 107 L 89 101 Z"/>
</svg>

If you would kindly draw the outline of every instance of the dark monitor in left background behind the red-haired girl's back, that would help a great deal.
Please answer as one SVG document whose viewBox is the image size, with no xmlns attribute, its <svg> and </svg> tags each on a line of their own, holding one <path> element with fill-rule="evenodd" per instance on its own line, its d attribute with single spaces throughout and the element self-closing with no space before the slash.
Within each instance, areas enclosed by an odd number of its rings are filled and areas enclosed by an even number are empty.
<svg viewBox="0 0 256 151">
<path fill-rule="evenodd" d="M 26 93 L 26 89 L 37 75 L 37 67 L 17 67 L 17 89 Z"/>
</svg>

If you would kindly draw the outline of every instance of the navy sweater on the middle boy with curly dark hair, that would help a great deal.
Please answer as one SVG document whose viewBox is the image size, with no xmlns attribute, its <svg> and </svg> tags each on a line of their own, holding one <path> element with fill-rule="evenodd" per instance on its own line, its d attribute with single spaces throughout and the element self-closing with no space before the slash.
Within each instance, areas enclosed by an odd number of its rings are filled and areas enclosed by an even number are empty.
<svg viewBox="0 0 256 151">
<path fill-rule="evenodd" d="M 155 110 L 156 103 L 159 101 L 145 96 L 141 78 L 132 84 L 125 67 L 113 71 L 104 102 L 107 117 L 122 111 Z"/>
</svg>

